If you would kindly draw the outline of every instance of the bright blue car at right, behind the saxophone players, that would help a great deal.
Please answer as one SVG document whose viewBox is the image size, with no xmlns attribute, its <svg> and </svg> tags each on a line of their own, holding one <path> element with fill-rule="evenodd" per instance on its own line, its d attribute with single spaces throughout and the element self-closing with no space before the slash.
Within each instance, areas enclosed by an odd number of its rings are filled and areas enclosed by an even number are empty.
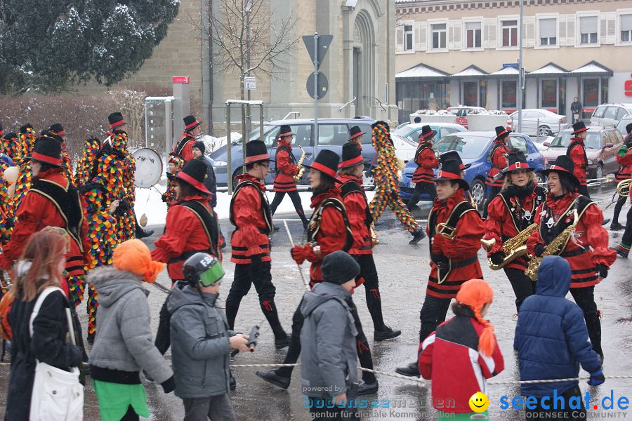
<svg viewBox="0 0 632 421">
<path fill-rule="evenodd" d="M 470 194 L 472 194 L 478 208 L 482 208 L 487 194 L 489 194 L 489 189 L 485 185 L 485 178 L 487 178 L 489 169 L 492 168 L 492 161 L 489 155 L 492 152 L 492 143 L 495 137 L 496 133 L 492 131 L 461 132 L 447 135 L 433 145 L 435 152 L 440 154 L 447 151 L 459 152 L 463 163 L 470 164 L 470 167 L 466 170 L 465 180 L 470 183 Z M 524 152 L 529 166 L 535 168 L 538 182 L 544 182 L 544 176 L 540 173 L 540 171 L 544 170 L 544 156 L 542 156 L 529 136 L 511 133 L 509 135 L 509 147 Z M 402 171 L 400 193 L 404 201 L 412 196 L 414 183 L 411 180 L 416 168 L 414 161 L 409 161 L 404 171 Z M 430 200 L 430 197 L 424 194 L 421 200 Z"/>
</svg>

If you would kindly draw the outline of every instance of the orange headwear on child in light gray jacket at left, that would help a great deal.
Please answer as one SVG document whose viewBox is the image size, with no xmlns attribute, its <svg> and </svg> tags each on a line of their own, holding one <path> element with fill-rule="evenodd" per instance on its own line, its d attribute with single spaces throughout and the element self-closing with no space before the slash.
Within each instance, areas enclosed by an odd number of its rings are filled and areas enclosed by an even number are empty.
<svg viewBox="0 0 632 421">
<path fill-rule="evenodd" d="M 155 281 L 164 266 L 164 263 L 152 260 L 150 250 L 143 241 L 124 241 L 114 249 L 114 267 L 143 276 L 145 282 Z"/>
</svg>

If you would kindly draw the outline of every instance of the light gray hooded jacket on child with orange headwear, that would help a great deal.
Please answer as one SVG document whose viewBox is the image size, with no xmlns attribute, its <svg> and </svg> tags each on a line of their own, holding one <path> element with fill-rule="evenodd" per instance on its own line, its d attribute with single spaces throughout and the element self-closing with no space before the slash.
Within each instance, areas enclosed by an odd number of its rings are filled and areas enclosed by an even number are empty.
<svg viewBox="0 0 632 421">
<path fill-rule="evenodd" d="M 110 370 L 149 373 L 162 383 L 173 375 L 154 346 L 147 290 L 140 276 L 112 266 L 88 274 L 99 294 L 97 335 L 90 364 Z"/>
</svg>

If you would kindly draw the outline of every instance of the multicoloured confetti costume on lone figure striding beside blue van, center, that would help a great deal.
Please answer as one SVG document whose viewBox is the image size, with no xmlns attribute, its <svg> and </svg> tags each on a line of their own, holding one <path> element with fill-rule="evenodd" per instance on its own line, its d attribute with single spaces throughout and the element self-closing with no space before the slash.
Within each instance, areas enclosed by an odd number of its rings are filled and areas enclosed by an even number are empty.
<svg viewBox="0 0 632 421">
<path fill-rule="evenodd" d="M 383 121 L 376 121 L 372 127 L 372 143 L 378 156 L 374 167 L 377 191 L 369 204 L 371 215 L 377 221 L 386 206 L 389 206 L 404 227 L 411 234 L 415 234 L 420 228 L 400 198 L 400 185 L 397 180 L 397 156 L 395 156 L 395 147 L 390 141 L 388 124 Z"/>
</svg>

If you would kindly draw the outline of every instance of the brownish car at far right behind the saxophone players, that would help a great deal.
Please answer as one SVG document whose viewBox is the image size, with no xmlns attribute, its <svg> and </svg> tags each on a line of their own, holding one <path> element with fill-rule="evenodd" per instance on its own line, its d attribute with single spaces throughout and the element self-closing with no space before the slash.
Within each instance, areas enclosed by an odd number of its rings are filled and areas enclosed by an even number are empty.
<svg viewBox="0 0 632 421">
<path fill-rule="evenodd" d="M 542 151 L 546 168 L 550 168 L 558 156 L 566 154 L 566 149 L 570 144 L 573 129 L 568 128 L 553 139 L 548 149 Z M 588 158 L 588 168 L 586 175 L 588 178 L 603 178 L 604 175 L 616 173 L 619 170 L 617 163 L 617 150 L 623 145 L 623 136 L 614 127 L 588 127 L 588 135 L 584 141 L 586 145 L 586 157 Z"/>
</svg>

